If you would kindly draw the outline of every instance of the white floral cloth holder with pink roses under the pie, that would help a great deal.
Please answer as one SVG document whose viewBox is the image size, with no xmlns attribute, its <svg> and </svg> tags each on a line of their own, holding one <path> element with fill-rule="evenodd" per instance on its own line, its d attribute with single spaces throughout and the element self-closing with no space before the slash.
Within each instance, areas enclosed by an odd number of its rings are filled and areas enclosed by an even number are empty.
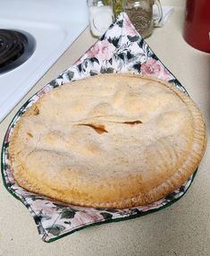
<svg viewBox="0 0 210 256">
<path fill-rule="evenodd" d="M 181 83 L 167 70 L 143 38 L 139 36 L 128 16 L 121 13 L 97 43 L 90 47 L 75 64 L 55 80 L 46 84 L 21 107 L 4 137 L 2 175 L 7 190 L 29 209 L 38 226 L 38 234 L 45 242 L 55 241 L 63 235 L 71 234 L 86 226 L 139 217 L 162 209 L 181 198 L 193 180 L 193 176 L 191 176 L 180 189 L 160 201 L 132 209 L 97 209 L 67 205 L 27 192 L 15 182 L 10 166 L 8 146 L 13 127 L 21 115 L 47 91 L 54 90 L 55 87 L 62 86 L 65 82 L 100 73 L 141 73 L 169 81 L 180 90 L 185 91 Z"/>
</svg>

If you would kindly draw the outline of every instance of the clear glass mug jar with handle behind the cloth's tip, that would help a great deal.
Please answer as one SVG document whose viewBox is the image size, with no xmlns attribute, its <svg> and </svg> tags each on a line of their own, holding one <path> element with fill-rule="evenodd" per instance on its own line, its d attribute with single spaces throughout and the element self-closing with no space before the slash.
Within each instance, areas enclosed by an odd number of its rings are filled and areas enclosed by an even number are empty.
<svg viewBox="0 0 210 256">
<path fill-rule="evenodd" d="M 158 8 L 158 17 L 153 18 L 153 5 Z M 123 0 L 123 10 L 128 14 L 130 21 L 138 30 L 142 38 L 148 38 L 156 26 L 163 18 L 162 7 L 159 0 Z"/>
</svg>

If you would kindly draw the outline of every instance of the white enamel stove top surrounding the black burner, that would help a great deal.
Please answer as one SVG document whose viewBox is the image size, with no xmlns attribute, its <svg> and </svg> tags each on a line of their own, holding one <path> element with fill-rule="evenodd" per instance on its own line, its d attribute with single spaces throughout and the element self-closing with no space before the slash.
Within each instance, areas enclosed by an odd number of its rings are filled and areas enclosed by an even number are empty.
<svg viewBox="0 0 210 256">
<path fill-rule="evenodd" d="M 0 6 L 0 29 L 26 31 L 35 38 L 29 59 L 0 73 L 2 121 L 87 28 L 88 11 L 86 0 L 0 0 Z"/>
</svg>

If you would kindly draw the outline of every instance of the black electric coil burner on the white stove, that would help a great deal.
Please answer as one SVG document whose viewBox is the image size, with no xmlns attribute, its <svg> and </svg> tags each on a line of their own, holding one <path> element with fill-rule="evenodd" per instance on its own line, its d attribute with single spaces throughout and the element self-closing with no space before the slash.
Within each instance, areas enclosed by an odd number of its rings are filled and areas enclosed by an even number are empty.
<svg viewBox="0 0 210 256">
<path fill-rule="evenodd" d="M 27 32 L 0 30 L 0 73 L 13 70 L 29 59 L 35 39 Z"/>
</svg>

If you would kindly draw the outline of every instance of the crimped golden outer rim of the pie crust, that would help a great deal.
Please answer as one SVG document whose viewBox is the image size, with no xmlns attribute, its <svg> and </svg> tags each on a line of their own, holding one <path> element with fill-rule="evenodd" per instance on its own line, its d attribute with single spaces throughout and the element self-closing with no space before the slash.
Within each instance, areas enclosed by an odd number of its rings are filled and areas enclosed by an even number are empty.
<svg viewBox="0 0 210 256">
<path fill-rule="evenodd" d="M 103 74 L 103 75 L 110 76 L 110 74 Z M 112 75 L 115 76 L 116 74 L 112 74 Z M 181 98 L 181 100 L 190 109 L 190 112 L 191 112 L 191 115 L 193 116 L 193 121 L 194 121 L 194 141 L 193 141 L 193 148 L 189 154 L 189 157 L 186 158 L 181 168 L 179 168 L 179 170 L 177 170 L 177 172 L 174 175 L 172 175 L 170 178 L 168 178 L 164 183 L 161 183 L 160 185 L 156 186 L 149 192 L 140 193 L 136 197 L 130 197 L 122 201 L 107 201 L 107 202 L 71 201 L 68 198 L 63 198 L 62 193 L 57 192 L 56 200 L 64 201 L 64 202 L 72 203 L 76 205 L 81 205 L 81 206 L 87 206 L 87 207 L 119 208 L 119 209 L 130 208 L 130 207 L 139 206 L 139 205 L 146 205 L 153 201 L 157 201 L 161 198 L 164 198 L 164 196 L 166 196 L 170 192 L 173 192 L 174 190 L 178 189 L 181 186 L 181 184 L 185 183 L 188 180 L 189 176 L 196 171 L 197 166 L 199 165 L 199 162 L 203 157 L 203 154 L 206 148 L 206 127 L 205 127 L 203 116 L 200 114 L 200 111 L 198 110 L 196 104 L 184 92 L 177 89 L 175 86 L 171 85 L 168 82 L 160 81 L 160 80 L 156 80 L 153 78 L 148 78 L 140 75 L 120 74 L 120 76 L 122 77 L 135 76 L 139 78 L 141 77 L 146 78 L 147 80 L 158 81 L 164 84 L 164 86 L 166 86 L 170 90 L 172 90 L 172 92 L 174 92 L 179 98 Z M 34 111 L 34 109 L 36 108 L 36 106 L 38 106 L 38 104 L 39 104 L 39 100 L 35 102 L 32 105 L 32 107 L 29 107 L 29 110 L 27 110 L 26 113 L 23 114 L 22 116 L 30 115 L 30 112 Z M 17 134 L 18 134 L 19 125 L 21 125 L 21 118 L 16 124 L 13 137 L 12 137 L 12 140 L 10 141 L 10 146 L 9 146 L 12 168 L 13 168 L 13 161 L 14 161 L 14 155 L 16 150 L 15 138 L 17 137 Z M 23 166 L 19 165 L 19 166 L 16 166 L 16 168 L 18 169 L 14 173 L 14 177 L 22 187 L 32 192 L 43 193 L 49 197 L 52 196 L 49 188 L 47 188 L 46 192 L 40 192 L 38 188 L 34 188 L 33 186 L 31 186 L 31 184 L 25 181 L 24 178 L 22 178 L 20 175 L 16 175 L 18 173 L 24 172 Z"/>
</svg>

